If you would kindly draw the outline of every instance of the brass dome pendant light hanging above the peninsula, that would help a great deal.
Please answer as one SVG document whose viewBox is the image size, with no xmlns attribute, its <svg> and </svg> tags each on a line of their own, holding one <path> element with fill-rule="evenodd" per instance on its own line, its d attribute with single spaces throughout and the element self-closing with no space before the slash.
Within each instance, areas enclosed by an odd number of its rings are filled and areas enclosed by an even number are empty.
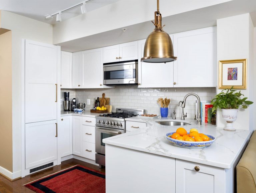
<svg viewBox="0 0 256 193">
<path fill-rule="evenodd" d="M 172 62 L 177 59 L 173 55 L 173 45 L 170 36 L 162 29 L 162 15 L 159 12 L 159 0 L 157 0 L 157 11 L 155 11 L 154 31 L 149 34 L 145 47 L 142 62 L 162 63 Z"/>
</svg>

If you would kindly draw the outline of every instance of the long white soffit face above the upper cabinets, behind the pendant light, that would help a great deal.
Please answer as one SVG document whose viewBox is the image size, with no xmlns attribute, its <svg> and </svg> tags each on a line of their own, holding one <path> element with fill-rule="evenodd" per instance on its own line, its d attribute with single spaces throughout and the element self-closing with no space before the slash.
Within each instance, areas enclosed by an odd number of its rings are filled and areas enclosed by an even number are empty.
<svg viewBox="0 0 256 193">
<path fill-rule="evenodd" d="M 161 0 L 160 12 L 167 17 L 227 1 L 230 0 Z M 156 0 L 120 0 L 55 24 L 53 43 L 58 44 L 154 20 L 156 7 Z"/>
</svg>

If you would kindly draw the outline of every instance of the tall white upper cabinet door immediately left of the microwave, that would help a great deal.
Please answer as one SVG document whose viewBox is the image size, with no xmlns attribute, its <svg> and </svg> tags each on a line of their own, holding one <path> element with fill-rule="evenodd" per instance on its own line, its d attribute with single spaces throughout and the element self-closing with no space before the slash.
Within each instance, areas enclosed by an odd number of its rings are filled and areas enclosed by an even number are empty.
<svg viewBox="0 0 256 193">
<path fill-rule="evenodd" d="M 81 88 L 102 88 L 103 86 L 103 49 L 82 52 Z"/>
</svg>

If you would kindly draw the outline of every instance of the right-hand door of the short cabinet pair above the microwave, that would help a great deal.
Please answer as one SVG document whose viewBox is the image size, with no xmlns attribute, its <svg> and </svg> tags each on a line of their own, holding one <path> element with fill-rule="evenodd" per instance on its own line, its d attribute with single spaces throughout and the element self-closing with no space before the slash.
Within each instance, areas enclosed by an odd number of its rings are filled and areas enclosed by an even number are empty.
<svg viewBox="0 0 256 193">
<path fill-rule="evenodd" d="M 128 42 L 119 45 L 120 61 L 138 59 L 138 41 Z"/>
</svg>

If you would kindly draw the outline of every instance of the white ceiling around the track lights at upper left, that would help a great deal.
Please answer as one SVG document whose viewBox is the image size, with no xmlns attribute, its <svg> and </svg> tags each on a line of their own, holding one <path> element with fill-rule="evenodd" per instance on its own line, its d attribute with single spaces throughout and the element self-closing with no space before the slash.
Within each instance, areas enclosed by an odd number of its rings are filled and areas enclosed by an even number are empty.
<svg viewBox="0 0 256 193">
<path fill-rule="evenodd" d="M 86 1 L 86 0 L 84 0 Z M 119 0 L 92 0 L 86 4 L 86 10 L 92 11 L 115 3 Z M 45 19 L 45 15 L 54 14 L 69 8 L 83 0 L 0 0 L 0 10 L 10 11 L 49 24 L 56 23 L 56 16 Z M 62 14 L 62 20 L 67 20 L 81 14 L 80 6 Z"/>
</svg>

